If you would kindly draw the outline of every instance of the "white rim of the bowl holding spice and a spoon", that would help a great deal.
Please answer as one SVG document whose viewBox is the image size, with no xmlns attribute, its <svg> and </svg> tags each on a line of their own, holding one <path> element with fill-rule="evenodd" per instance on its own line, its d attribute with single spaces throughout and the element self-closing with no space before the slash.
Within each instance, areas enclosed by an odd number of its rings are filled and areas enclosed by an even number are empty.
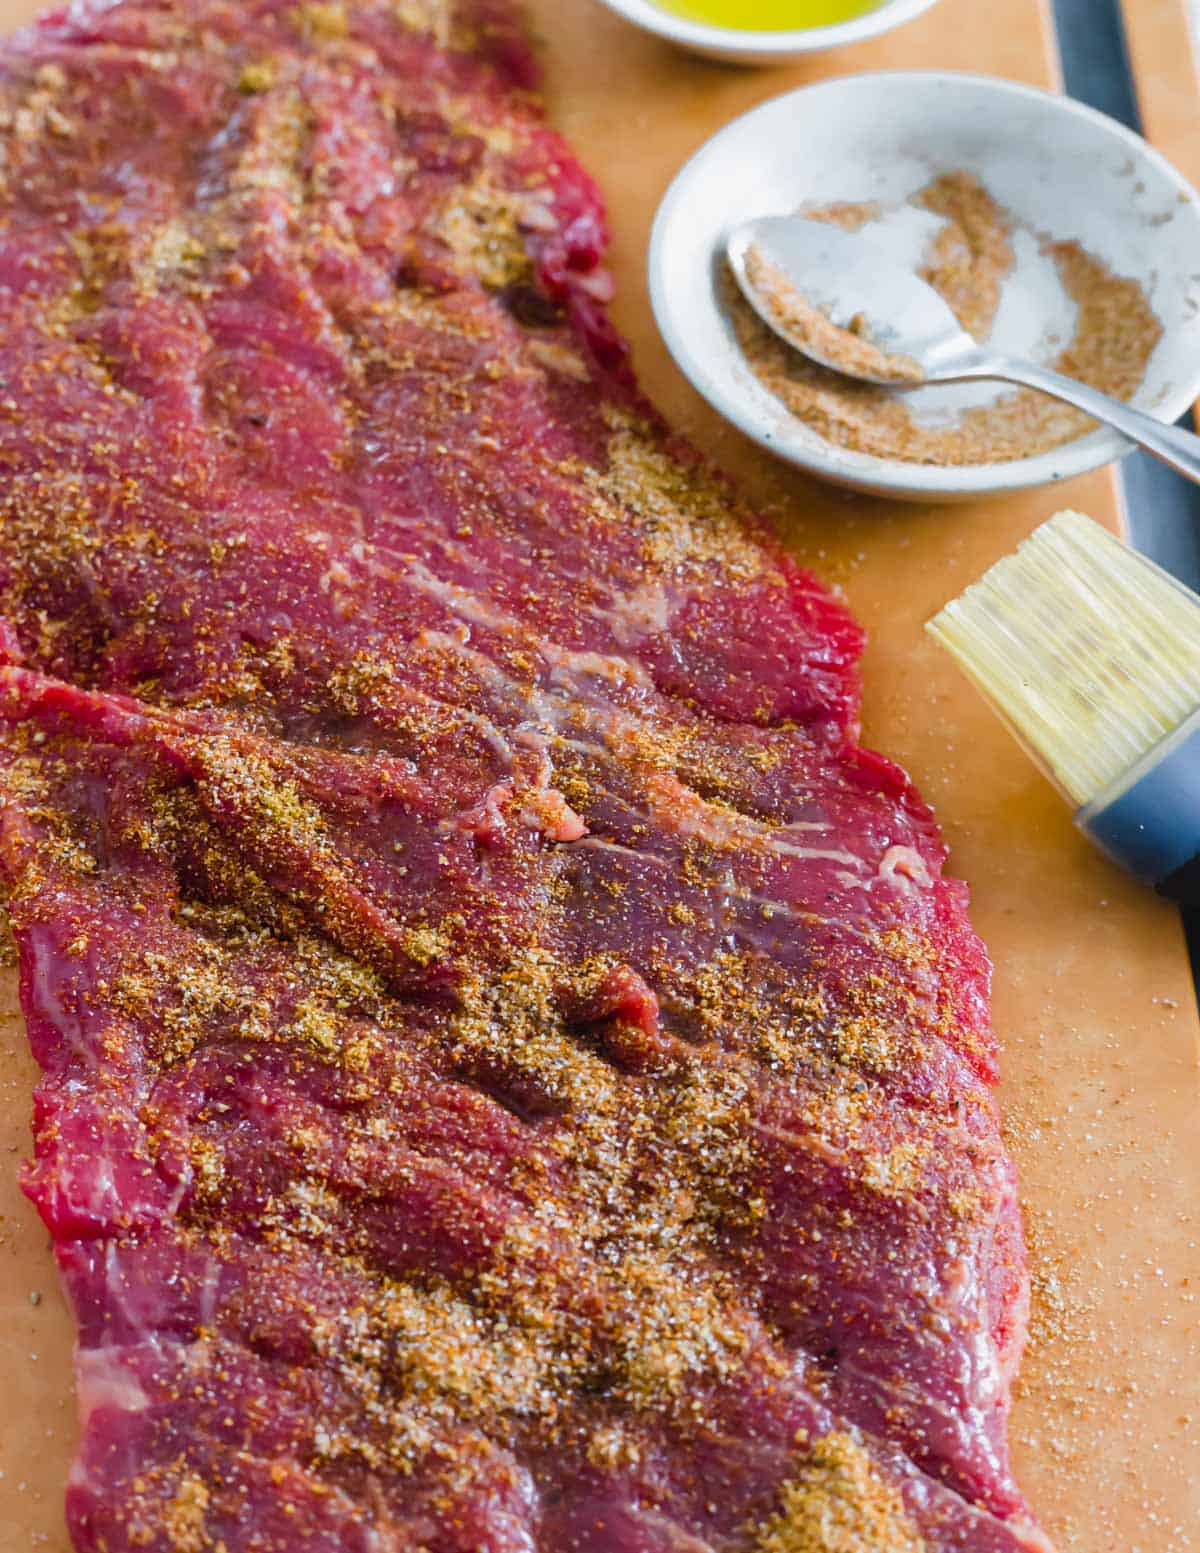
<svg viewBox="0 0 1200 1553">
<path fill-rule="evenodd" d="M 810 474 L 834 485 L 849 486 L 866 494 L 930 502 L 1001 495 L 1011 491 L 1025 491 L 1035 486 L 1057 485 L 1062 480 L 1073 480 L 1076 475 L 1091 474 L 1105 464 L 1124 458 L 1133 450 L 1133 444 L 1121 436 L 1119 432 L 1108 427 L 1077 436 L 1043 453 L 1031 453 L 1025 458 L 992 464 L 919 464 L 874 455 L 858 455 L 851 460 L 843 449 L 826 441 L 820 433 L 815 433 L 817 439 L 810 447 L 799 450 L 795 446 L 789 446 L 784 449 L 773 432 L 775 422 L 756 410 L 745 393 L 727 385 L 719 374 L 711 371 L 702 354 L 691 349 L 686 331 L 677 326 L 672 309 L 666 301 L 669 284 L 666 278 L 666 233 L 677 203 L 688 194 L 688 179 L 694 165 L 700 163 L 709 152 L 709 148 L 723 135 L 733 132 L 736 126 L 742 126 L 758 115 L 778 110 L 781 102 L 838 89 L 869 90 L 871 84 L 879 81 L 911 84 L 917 90 L 936 89 L 939 82 L 956 81 L 997 95 L 1046 102 L 1056 112 L 1087 120 L 1101 134 L 1125 146 L 1130 155 L 1136 157 L 1143 165 L 1155 166 L 1175 188 L 1177 194 L 1200 214 L 1200 193 L 1160 151 L 1155 151 L 1141 135 L 1132 129 L 1125 129 L 1115 118 L 1074 101 L 1074 98 L 1060 96 L 1056 92 L 1031 87 L 1020 81 L 1008 81 L 1003 76 L 989 76 L 969 70 L 871 70 L 857 75 L 831 76 L 826 81 L 815 81 L 792 92 L 767 98 L 765 102 L 759 102 L 748 112 L 730 120 L 728 124 L 722 126 L 716 135 L 711 135 L 683 163 L 671 180 L 650 230 L 647 272 L 655 323 L 675 365 L 714 410 L 727 421 L 731 421 L 751 441 L 765 447 L 767 452 L 796 467 L 807 469 Z M 1189 410 L 1197 399 L 1200 399 L 1200 357 L 1192 374 L 1172 382 L 1169 390 L 1163 393 L 1161 402 L 1153 405 L 1149 413 L 1169 426 Z M 787 412 L 782 413 L 784 416 L 787 415 Z"/>
</svg>

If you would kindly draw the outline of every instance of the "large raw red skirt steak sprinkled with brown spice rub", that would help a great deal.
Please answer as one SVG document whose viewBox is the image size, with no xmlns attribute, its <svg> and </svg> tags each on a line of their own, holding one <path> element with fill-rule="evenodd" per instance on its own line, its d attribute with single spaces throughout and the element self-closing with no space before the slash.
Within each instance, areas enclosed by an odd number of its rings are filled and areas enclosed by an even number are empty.
<svg viewBox="0 0 1200 1553">
<path fill-rule="evenodd" d="M 1015 1553 L 987 961 L 508 0 L 0 56 L 0 792 L 95 1553 Z"/>
</svg>

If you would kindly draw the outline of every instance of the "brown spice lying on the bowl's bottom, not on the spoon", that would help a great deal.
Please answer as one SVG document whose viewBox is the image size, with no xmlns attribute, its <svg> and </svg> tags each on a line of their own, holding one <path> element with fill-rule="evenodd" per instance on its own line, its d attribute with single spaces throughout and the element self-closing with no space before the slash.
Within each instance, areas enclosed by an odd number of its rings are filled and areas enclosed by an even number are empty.
<svg viewBox="0 0 1200 1553">
<path fill-rule="evenodd" d="M 969 172 L 935 179 L 910 203 L 945 219 L 925 252 L 922 278 L 950 304 L 964 329 L 986 342 L 1003 283 L 1014 269 L 1012 217 Z M 880 211 L 872 205 L 840 203 L 804 214 L 855 231 Z M 1054 262 L 1077 309 L 1073 335 L 1051 365 L 1116 399 L 1130 399 L 1163 335 L 1144 290 L 1136 281 L 1113 275 L 1079 242 L 1045 239 L 1042 252 Z M 798 419 L 840 447 L 905 463 L 992 464 L 1049 452 L 1094 427 L 1082 412 L 1031 388 L 964 410 L 949 424 L 922 424 L 903 394 L 845 377 L 786 345 L 731 280 L 727 298 L 737 340 L 759 382 Z"/>
</svg>

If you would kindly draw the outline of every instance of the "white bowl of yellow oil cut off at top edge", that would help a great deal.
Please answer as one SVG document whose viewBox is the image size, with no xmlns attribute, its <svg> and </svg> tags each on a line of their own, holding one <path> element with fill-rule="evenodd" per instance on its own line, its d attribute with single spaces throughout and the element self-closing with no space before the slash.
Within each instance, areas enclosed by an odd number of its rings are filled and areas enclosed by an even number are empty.
<svg viewBox="0 0 1200 1553">
<path fill-rule="evenodd" d="M 737 65 L 781 65 L 789 59 L 801 59 L 804 54 L 817 54 L 826 48 L 846 48 L 849 43 L 862 43 L 863 39 L 890 33 L 891 28 L 911 22 L 913 17 L 928 11 L 938 0 L 876 0 L 874 5 L 862 6 L 857 16 L 849 16 L 840 22 L 817 22 L 809 26 L 725 26 L 716 22 L 694 20 L 682 14 L 688 9 L 703 11 L 708 6 L 678 5 L 669 0 L 666 5 L 655 5 L 655 0 L 601 0 L 610 11 L 623 16 L 627 22 L 655 33 L 680 48 L 703 54 L 706 59 L 723 59 Z M 754 0 L 740 0 L 742 9 L 753 19 Z M 792 9 L 803 14 L 806 0 L 793 0 Z M 813 6 L 817 9 L 817 6 Z M 829 0 L 820 6 L 821 11 L 841 9 L 831 6 Z M 849 5 L 845 9 L 851 9 Z"/>
</svg>

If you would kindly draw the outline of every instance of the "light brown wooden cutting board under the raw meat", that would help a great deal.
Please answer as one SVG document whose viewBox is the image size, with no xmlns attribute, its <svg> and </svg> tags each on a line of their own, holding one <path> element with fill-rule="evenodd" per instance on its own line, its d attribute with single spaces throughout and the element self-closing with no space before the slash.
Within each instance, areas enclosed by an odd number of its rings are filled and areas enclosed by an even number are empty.
<svg viewBox="0 0 1200 1553">
<path fill-rule="evenodd" d="M 1194 137 L 1200 101 L 1191 56 L 1180 54 L 1184 3 L 1129 0 L 1139 22 L 1153 22 L 1146 57 L 1172 70 L 1163 132 L 1180 148 L 1184 124 Z M 0 28 L 34 9 L 33 0 L 0 0 Z M 1014 1423 L 1029 1497 L 1063 1553 L 1192 1553 L 1200 1023 L 1178 918 L 1084 845 L 1056 795 L 921 634 L 928 615 L 1057 508 L 1118 526 L 1112 475 L 949 509 L 823 489 L 695 398 L 658 340 L 643 280 L 663 189 L 733 115 L 806 81 L 888 67 L 1056 85 L 1046 8 L 942 0 L 874 43 L 770 71 L 688 59 L 595 0 L 532 0 L 531 9 L 553 118 L 609 197 L 616 320 L 643 382 L 776 514 L 798 554 L 849 595 L 872 640 L 866 739 L 913 770 L 941 814 L 955 871 L 972 884 L 975 922 L 997 963 L 1004 1101 L 1035 1261 L 1034 1336 Z M 0 983 L 0 1550 L 65 1553 L 71 1328 L 45 1232 L 16 1186 L 33 1082 L 9 974 Z"/>
</svg>

